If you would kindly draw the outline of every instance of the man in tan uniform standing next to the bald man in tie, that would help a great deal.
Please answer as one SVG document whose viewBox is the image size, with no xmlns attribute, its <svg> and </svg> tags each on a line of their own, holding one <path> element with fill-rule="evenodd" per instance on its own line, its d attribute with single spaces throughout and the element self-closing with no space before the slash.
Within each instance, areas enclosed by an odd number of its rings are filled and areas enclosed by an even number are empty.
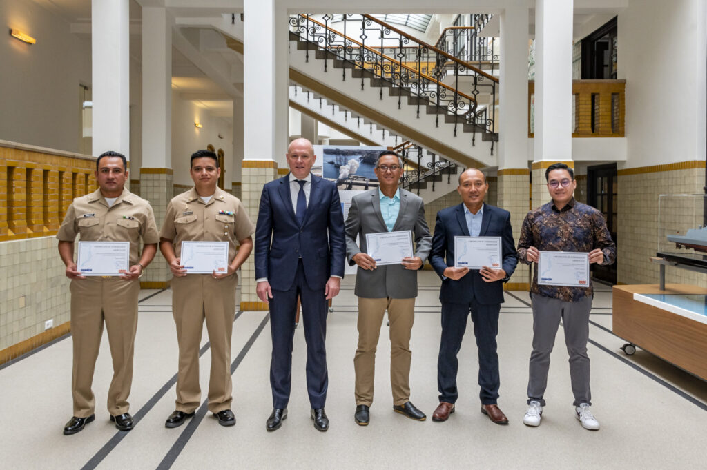
<svg viewBox="0 0 707 470">
<path fill-rule="evenodd" d="M 255 231 L 240 199 L 216 187 L 221 175 L 216 153 L 197 151 L 191 162 L 189 175 L 194 187 L 170 201 L 160 230 L 160 250 L 174 275 L 172 308 L 179 343 L 176 409 L 165 421 L 167 428 L 176 428 L 194 416 L 201 401 L 199 341 L 204 319 L 211 342 L 209 411 L 221 425 L 235 424 L 230 410 L 235 271 L 250 254 Z M 228 272 L 187 276 L 180 259 L 183 241 L 228 242 Z"/>
</svg>

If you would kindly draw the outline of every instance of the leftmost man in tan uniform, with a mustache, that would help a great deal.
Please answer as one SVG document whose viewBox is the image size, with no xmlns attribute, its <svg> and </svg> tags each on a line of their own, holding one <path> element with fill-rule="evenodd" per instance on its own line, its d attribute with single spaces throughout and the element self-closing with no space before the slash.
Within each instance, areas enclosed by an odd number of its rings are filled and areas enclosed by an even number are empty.
<svg viewBox="0 0 707 470">
<path fill-rule="evenodd" d="M 113 358 L 113 380 L 107 399 L 110 421 L 115 421 L 119 430 L 130 430 L 134 425 L 127 398 L 132 385 L 138 278 L 155 256 L 159 237 L 150 204 L 124 188 L 127 178 L 124 155 L 101 154 L 95 172 L 99 189 L 74 199 L 57 233 L 59 254 L 66 264 L 66 277 L 71 279 L 74 416 L 64 427 L 67 435 L 78 433 L 95 418 L 91 382 L 104 320 Z M 81 276 L 74 262 L 77 234 L 83 241 L 130 242 L 129 271 L 123 276 Z M 141 255 L 140 239 L 144 243 Z"/>
</svg>

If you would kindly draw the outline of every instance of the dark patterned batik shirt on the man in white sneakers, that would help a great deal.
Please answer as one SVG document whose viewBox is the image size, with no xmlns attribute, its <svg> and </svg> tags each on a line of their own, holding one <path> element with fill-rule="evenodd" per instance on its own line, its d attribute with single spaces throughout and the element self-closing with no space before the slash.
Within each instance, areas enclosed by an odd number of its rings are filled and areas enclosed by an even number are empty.
<svg viewBox="0 0 707 470">
<path fill-rule="evenodd" d="M 559 211 L 550 201 L 533 209 L 523 221 L 518 239 L 518 259 L 527 260 L 527 249 L 536 247 L 541 252 L 590 252 L 600 248 L 604 252 L 602 265 L 612 264 L 617 257 L 617 247 L 612 240 L 607 223 L 600 211 L 575 201 L 574 198 Z M 576 302 L 592 296 L 594 289 L 588 287 L 539 286 L 537 263 L 533 266 L 530 292 L 566 302 Z"/>
</svg>

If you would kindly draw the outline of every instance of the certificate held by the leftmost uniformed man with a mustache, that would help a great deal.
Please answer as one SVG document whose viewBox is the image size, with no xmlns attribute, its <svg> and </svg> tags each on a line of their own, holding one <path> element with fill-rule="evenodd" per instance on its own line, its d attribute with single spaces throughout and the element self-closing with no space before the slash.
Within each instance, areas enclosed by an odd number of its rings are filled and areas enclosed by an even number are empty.
<svg viewBox="0 0 707 470">
<path fill-rule="evenodd" d="M 130 242 L 78 242 L 81 276 L 120 276 L 130 263 Z"/>
</svg>

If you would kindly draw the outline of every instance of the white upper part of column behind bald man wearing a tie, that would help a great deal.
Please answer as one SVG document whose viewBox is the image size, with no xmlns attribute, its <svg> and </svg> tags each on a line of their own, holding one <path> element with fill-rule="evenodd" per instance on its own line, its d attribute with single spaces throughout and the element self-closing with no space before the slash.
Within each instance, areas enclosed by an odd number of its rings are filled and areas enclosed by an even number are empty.
<svg viewBox="0 0 707 470">
<path fill-rule="evenodd" d="M 287 10 L 275 0 L 244 0 L 243 110 L 246 160 L 276 160 L 287 150 Z"/>
</svg>

